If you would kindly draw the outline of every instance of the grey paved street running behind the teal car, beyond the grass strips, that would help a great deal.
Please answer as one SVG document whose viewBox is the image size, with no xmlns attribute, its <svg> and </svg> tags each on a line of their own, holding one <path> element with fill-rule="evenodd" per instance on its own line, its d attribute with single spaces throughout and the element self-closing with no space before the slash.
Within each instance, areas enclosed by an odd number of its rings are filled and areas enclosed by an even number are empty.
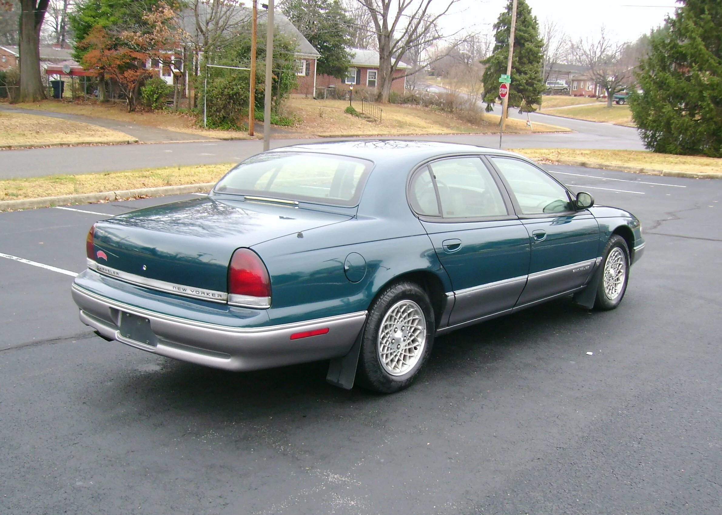
<svg viewBox="0 0 722 515">
<path fill-rule="evenodd" d="M 604 123 L 580 123 L 589 124 L 591 128 L 587 132 L 504 136 L 503 147 L 505 149 L 545 149 L 555 147 L 643 149 L 635 129 L 610 126 Z M 593 131 L 606 133 L 606 136 L 596 134 Z M 328 141 L 328 139 L 273 139 L 271 140 L 271 148 L 303 144 L 310 141 Z M 405 139 L 455 141 L 495 148 L 499 146 L 499 136 L 497 135 L 414 136 Z M 6 150 L 0 151 L 0 179 L 37 177 L 61 173 L 113 172 L 180 164 L 238 162 L 262 150 L 263 141 L 259 140 Z"/>
</svg>

